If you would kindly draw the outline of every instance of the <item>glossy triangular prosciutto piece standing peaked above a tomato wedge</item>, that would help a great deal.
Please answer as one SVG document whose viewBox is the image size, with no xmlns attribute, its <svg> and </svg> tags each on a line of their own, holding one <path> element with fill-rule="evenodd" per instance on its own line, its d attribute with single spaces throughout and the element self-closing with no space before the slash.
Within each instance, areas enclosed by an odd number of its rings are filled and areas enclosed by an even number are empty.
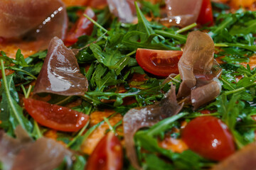
<svg viewBox="0 0 256 170">
<path fill-rule="evenodd" d="M 80 96 L 85 94 L 87 86 L 88 81 L 80 73 L 78 61 L 72 50 L 65 47 L 59 38 L 53 38 L 33 93 Z"/>
</svg>

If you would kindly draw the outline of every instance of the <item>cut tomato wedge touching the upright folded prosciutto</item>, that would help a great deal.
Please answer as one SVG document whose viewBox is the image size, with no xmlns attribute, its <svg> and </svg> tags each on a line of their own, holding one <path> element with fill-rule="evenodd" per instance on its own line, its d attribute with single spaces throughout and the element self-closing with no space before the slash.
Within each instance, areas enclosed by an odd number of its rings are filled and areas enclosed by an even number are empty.
<svg viewBox="0 0 256 170">
<path fill-rule="evenodd" d="M 178 74 L 178 61 L 182 51 L 149 50 L 138 48 L 136 60 L 146 72 L 160 77 Z"/>
</svg>

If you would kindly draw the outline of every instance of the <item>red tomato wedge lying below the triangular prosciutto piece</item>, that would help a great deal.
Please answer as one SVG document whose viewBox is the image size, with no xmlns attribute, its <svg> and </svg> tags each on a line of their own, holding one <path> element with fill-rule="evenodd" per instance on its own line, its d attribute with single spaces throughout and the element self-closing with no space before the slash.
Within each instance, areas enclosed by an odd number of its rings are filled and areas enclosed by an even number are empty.
<svg viewBox="0 0 256 170">
<path fill-rule="evenodd" d="M 89 120 L 84 113 L 33 98 L 25 98 L 24 105 L 36 122 L 54 130 L 77 132 Z"/>
</svg>

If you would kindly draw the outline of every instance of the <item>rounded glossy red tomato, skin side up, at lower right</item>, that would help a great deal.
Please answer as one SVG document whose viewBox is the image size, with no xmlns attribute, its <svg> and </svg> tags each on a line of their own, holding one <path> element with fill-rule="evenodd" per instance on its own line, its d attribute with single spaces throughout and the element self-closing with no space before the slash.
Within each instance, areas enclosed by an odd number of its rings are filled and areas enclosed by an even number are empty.
<svg viewBox="0 0 256 170">
<path fill-rule="evenodd" d="M 213 116 L 191 120 L 181 133 L 188 147 L 202 157 L 221 161 L 235 152 L 233 136 L 227 125 Z"/>
</svg>

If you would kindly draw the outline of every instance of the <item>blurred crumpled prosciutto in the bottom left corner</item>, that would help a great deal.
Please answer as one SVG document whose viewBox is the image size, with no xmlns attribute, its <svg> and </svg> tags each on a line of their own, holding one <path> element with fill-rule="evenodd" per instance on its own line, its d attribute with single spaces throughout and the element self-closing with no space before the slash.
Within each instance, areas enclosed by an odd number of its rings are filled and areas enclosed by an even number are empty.
<svg viewBox="0 0 256 170">
<path fill-rule="evenodd" d="M 16 136 L 15 139 L 0 132 L 0 160 L 6 169 L 55 169 L 64 157 L 72 162 L 72 152 L 54 140 L 41 137 L 33 142 L 21 126 L 16 128 Z"/>
</svg>

